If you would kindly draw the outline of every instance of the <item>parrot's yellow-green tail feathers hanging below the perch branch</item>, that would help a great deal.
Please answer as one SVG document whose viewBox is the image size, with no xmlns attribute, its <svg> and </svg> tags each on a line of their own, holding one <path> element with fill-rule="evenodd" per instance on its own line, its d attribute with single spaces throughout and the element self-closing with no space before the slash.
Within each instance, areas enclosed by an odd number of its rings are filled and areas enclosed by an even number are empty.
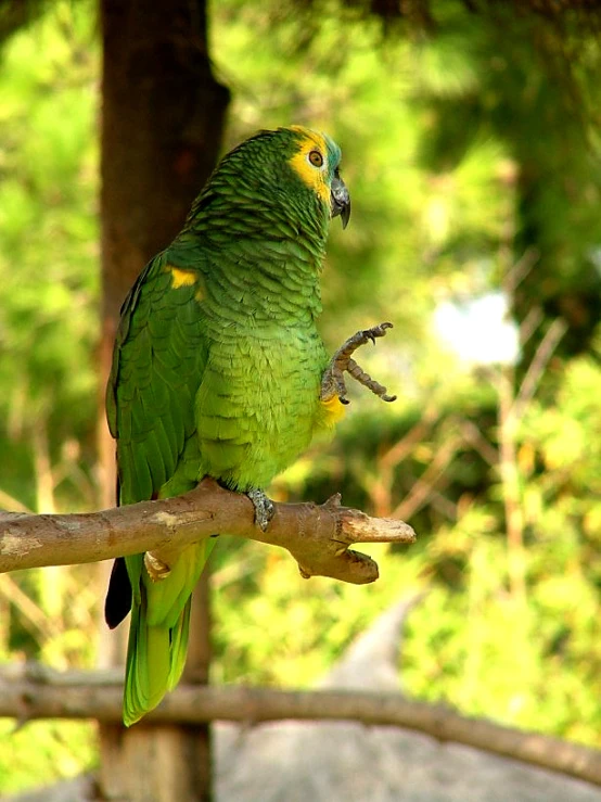
<svg viewBox="0 0 601 802">
<path fill-rule="evenodd" d="M 164 580 L 153 583 L 137 555 L 126 558 L 133 594 L 124 692 L 129 727 L 179 682 L 188 652 L 191 594 L 215 540 L 188 547 Z M 135 581 L 137 578 L 137 584 Z"/>
</svg>

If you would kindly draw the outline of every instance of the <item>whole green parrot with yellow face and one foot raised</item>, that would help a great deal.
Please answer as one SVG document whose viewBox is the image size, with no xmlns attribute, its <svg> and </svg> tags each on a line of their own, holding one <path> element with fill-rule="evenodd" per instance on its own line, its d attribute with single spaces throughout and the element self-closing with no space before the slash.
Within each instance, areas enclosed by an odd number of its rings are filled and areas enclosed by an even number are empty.
<svg viewBox="0 0 601 802">
<path fill-rule="evenodd" d="M 230 151 L 181 232 L 152 258 L 120 311 L 106 413 L 116 440 L 117 502 L 163 499 L 204 476 L 248 495 L 265 487 L 344 412 L 342 372 L 385 395 L 318 333 L 320 275 L 332 218 L 346 225 L 341 149 L 303 126 L 263 130 Z M 359 332 L 360 343 L 381 336 Z M 371 385 L 370 383 L 371 382 Z M 113 628 L 131 611 L 123 717 L 138 722 L 183 671 L 191 595 L 214 538 L 170 565 L 152 552 L 117 558 L 105 601 Z"/>
</svg>

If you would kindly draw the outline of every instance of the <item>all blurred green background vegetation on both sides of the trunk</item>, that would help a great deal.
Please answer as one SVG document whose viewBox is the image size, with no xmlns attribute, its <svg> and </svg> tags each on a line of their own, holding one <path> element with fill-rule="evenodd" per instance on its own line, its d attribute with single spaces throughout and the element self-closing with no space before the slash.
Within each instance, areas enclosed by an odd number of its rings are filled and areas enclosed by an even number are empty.
<svg viewBox="0 0 601 802">
<path fill-rule="evenodd" d="M 353 220 L 331 237 L 327 342 L 395 323 L 362 359 L 399 400 L 356 391 L 335 440 L 272 495 L 340 489 L 420 535 L 373 549 L 371 587 L 304 582 L 283 553 L 223 539 L 213 676 L 309 686 L 388 604 L 426 589 L 404 645 L 409 693 L 601 746 L 599 47 L 567 31 L 581 55 L 571 66 L 508 4 L 496 16 L 435 5 L 434 37 L 385 36 L 334 2 L 212 9 L 215 66 L 233 93 L 225 149 L 292 122 L 342 144 Z M 95 13 L 57 0 L 0 55 L 11 509 L 100 498 Z M 0 660 L 92 667 L 103 591 L 90 567 L 0 577 Z M 93 765 L 90 724 L 28 725 L 9 740 L 13 726 L 0 722 L 0 790 Z"/>
</svg>

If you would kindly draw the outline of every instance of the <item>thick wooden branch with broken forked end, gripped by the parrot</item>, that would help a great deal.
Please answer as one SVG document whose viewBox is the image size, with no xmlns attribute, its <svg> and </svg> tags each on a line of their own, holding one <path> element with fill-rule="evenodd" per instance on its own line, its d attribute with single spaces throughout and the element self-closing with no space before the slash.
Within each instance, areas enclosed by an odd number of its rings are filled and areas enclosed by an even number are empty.
<svg viewBox="0 0 601 802">
<path fill-rule="evenodd" d="M 374 582 L 378 565 L 349 550 L 357 543 L 414 543 L 402 521 L 369 518 L 340 506 L 276 504 L 267 532 L 254 524 L 248 498 L 205 479 L 177 498 L 143 501 L 102 512 L 30 515 L 0 512 L 0 573 L 42 565 L 94 562 L 152 551 L 169 565 L 183 546 L 221 533 L 281 546 L 300 574 L 331 576 L 357 585 Z"/>
</svg>

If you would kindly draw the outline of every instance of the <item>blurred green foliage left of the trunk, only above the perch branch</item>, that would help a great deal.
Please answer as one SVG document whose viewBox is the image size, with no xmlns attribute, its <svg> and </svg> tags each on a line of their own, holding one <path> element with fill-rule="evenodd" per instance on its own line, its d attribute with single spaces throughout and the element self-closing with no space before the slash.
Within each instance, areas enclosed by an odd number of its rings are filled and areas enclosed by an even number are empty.
<svg viewBox="0 0 601 802">
<path fill-rule="evenodd" d="M 77 464 L 93 437 L 99 331 L 89 7 L 57 3 L 7 43 L 0 66 L 0 447 L 12 455 L 0 488 L 35 508 L 34 466 L 48 448 L 56 489 L 69 485 L 64 502 L 90 504 Z"/>
</svg>

